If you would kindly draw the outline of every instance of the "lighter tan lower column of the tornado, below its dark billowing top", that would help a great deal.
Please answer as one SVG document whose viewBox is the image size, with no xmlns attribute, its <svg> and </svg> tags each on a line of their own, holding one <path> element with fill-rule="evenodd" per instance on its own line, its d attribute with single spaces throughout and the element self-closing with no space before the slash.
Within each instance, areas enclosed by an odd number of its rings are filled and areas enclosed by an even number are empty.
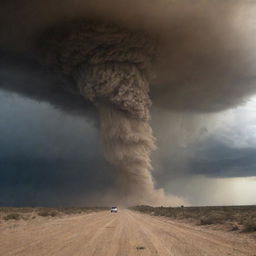
<svg viewBox="0 0 256 256">
<path fill-rule="evenodd" d="M 105 158 L 116 168 L 121 201 L 130 205 L 167 201 L 155 190 L 150 154 L 155 138 L 148 122 L 127 117 L 105 104 L 97 105 Z"/>
</svg>

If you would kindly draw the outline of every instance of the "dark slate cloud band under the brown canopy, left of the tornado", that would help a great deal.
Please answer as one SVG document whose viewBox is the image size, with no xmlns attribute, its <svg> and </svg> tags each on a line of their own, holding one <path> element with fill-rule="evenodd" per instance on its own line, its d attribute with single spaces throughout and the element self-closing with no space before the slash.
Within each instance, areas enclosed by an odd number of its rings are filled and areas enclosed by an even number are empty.
<svg viewBox="0 0 256 256">
<path fill-rule="evenodd" d="M 73 81 L 53 74 L 37 61 L 25 55 L 0 51 L 0 88 L 15 91 L 38 101 L 76 115 L 86 115 L 95 120 L 89 101 L 76 92 Z"/>
</svg>

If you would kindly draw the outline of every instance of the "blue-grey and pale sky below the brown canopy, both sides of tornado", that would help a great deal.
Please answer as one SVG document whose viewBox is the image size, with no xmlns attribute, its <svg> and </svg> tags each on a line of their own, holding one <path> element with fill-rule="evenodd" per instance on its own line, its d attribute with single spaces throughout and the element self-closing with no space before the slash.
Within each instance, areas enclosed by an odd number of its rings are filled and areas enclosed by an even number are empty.
<svg viewBox="0 0 256 256">
<path fill-rule="evenodd" d="M 205 117 L 194 117 L 202 125 L 192 134 L 199 130 L 199 136 L 176 142 L 173 125 L 161 117 L 165 125 L 159 127 L 158 110 L 153 108 L 157 187 L 186 205 L 255 204 L 255 107 L 252 97 L 219 113 L 210 118 L 211 129 L 202 122 Z M 188 129 L 186 119 L 180 118 L 180 129 Z M 87 205 L 115 186 L 94 120 L 3 90 L 0 120 L 1 205 Z"/>
</svg>

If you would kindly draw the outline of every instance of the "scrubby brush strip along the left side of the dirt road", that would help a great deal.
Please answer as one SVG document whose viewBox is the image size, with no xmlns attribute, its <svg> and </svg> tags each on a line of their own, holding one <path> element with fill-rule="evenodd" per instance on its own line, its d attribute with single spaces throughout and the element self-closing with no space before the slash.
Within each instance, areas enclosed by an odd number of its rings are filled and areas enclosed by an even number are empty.
<svg viewBox="0 0 256 256">
<path fill-rule="evenodd" d="M 0 221 L 29 220 L 38 217 L 62 217 L 107 209 L 107 207 L 0 207 Z"/>
</svg>

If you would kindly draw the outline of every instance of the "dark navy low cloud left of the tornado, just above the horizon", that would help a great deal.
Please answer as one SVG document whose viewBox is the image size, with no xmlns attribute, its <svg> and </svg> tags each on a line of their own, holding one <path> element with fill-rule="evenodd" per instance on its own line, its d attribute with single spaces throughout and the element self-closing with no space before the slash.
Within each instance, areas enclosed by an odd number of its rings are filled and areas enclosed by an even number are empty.
<svg viewBox="0 0 256 256">
<path fill-rule="evenodd" d="M 5 206 L 88 205 L 95 192 L 105 193 L 114 185 L 113 173 L 100 156 L 79 162 L 4 157 L 0 170 L 0 205 Z"/>
</svg>

